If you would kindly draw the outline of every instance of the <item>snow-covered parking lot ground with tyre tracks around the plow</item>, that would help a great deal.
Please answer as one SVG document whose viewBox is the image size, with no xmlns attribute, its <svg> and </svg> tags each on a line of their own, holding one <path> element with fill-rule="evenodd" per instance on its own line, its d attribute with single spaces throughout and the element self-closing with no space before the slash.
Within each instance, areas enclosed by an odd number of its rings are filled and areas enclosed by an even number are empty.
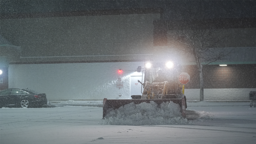
<svg viewBox="0 0 256 144">
<path fill-rule="evenodd" d="M 201 118 L 173 125 L 102 124 L 102 107 L 0 109 L 0 144 L 254 144 L 248 102 L 188 102 Z"/>
</svg>

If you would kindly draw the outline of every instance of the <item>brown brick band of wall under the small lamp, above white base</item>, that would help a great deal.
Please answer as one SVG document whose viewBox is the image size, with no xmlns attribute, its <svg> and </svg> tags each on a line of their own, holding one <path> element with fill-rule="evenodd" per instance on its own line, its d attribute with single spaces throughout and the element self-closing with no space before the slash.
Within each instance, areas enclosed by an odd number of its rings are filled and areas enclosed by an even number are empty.
<svg viewBox="0 0 256 144">
<path fill-rule="evenodd" d="M 190 75 L 187 89 L 199 89 L 195 65 L 183 68 Z M 256 88 L 256 64 L 234 64 L 226 67 L 206 65 L 203 68 L 205 89 Z"/>
</svg>

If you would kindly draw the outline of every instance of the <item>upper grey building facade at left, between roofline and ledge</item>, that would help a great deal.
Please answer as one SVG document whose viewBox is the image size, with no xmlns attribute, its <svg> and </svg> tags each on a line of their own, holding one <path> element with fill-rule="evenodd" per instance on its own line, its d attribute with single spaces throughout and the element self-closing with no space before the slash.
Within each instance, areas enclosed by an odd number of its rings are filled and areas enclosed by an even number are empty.
<svg viewBox="0 0 256 144">
<path fill-rule="evenodd" d="M 138 60 L 153 54 L 160 14 L 1 19 L 1 35 L 22 48 L 19 61 Z M 126 55 L 124 55 L 126 54 Z"/>
</svg>

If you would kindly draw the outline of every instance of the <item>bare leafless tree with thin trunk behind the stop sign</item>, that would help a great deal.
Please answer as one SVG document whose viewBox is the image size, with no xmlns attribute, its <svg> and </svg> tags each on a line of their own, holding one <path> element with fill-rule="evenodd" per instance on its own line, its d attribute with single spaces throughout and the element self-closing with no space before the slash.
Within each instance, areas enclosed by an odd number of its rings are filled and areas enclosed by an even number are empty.
<svg viewBox="0 0 256 144">
<path fill-rule="evenodd" d="M 185 29 L 174 30 L 171 36 L 172 43 L 179 50 L 192 54 L 200 78 L 200 101 L 204 101 L 203 65 L 224 59 L 230 54 L 224 48 L 218 48 L 222 43 L 223 35 L 220 29 L 200 29 L 188 25 Z"/>
</svg>

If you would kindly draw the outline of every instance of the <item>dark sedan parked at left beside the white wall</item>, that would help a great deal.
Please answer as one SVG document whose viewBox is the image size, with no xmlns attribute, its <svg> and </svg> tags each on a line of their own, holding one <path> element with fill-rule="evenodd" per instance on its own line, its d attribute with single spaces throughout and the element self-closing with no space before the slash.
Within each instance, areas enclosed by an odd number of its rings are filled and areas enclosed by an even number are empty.
<svg viewBox="0 0 256 144">
<path fill-rule="evenodd" d="M 29 89 L 6 89 L 0 91 L 2 107 L 42 107 L 47 104 L 46 94 Z"/>
</svg>

